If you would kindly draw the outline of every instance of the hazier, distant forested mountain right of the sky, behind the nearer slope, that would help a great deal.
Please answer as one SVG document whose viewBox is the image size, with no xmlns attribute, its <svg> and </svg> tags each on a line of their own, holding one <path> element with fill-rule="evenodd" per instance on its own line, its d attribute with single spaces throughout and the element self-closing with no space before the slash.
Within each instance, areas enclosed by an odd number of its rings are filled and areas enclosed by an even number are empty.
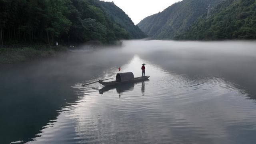
<svg viewBox="0 0 256 144">
<path fill-rule="evenodd" d="M 172 39 L 187 30 L 195 20 L 208 10 L 209 4 L 216 6 L 223 0 L 183 0 L 164 11 L 148 16 L 139 28 L 154 39 Z"/>
</svg>

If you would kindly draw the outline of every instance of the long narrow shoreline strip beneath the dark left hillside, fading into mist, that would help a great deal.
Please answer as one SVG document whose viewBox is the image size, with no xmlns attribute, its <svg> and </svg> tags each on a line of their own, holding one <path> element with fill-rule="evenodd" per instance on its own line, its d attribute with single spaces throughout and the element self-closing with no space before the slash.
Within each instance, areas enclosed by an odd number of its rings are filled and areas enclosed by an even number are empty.
<svg viewBox="0 0 256 144">
<path fill-rule="evenodd" d="M 85 43 L 76 46 L 55 46 L 48 44 L 0 45 L 0 64 L 15 64 L 41 58 L 50 58 L 68 52 L 91 52 L 102 46 L 122 46 L 122 41 L 112 44 Z"/>
</svg>

